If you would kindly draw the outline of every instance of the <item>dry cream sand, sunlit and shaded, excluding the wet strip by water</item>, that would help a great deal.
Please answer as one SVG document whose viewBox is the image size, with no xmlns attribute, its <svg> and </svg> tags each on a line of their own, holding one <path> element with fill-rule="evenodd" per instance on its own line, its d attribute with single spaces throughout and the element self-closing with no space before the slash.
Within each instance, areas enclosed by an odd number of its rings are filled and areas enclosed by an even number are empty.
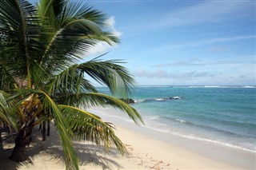
<svg viewBox="0 0 256 170">
<path fill-rule="evenodd" d="M 106 154 L 103 148 L 88 142 L 74 143 L 80 158 L 80 169 L 242 169 L 126 128 L 117 129 L 129 155 L 121 156 L 116 149 L 110 149 Z M 13 144 L 5 144 L 5 151 L 0 153 L 0 169 L 65 169 L 57 133 L 53 131 L 46 141 L 39 140 L 34 137 L 34 144 L 28 149 L 28 164 L 16 164 L 9 160 Z"/>
</svg>

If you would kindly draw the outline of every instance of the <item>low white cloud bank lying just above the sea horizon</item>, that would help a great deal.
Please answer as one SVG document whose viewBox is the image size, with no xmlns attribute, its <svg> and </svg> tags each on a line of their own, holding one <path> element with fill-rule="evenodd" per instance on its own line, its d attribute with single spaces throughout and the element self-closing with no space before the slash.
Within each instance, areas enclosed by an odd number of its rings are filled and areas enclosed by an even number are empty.
<svg viewBox="0 0 256 170">
<path fill-rule="evenodd" d="M 255 85 L 255 74 L 146 71 L 133 72 L 139 85 Z"/>
</svg>

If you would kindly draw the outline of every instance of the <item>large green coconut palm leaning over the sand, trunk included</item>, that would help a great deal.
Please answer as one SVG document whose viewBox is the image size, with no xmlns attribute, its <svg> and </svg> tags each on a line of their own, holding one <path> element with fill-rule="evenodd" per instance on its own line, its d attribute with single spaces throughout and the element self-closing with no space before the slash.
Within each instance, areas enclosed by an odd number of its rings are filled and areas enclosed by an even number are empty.
<svg viewBox="0 0 256 170">
<path fill-rule="evenodd" d="M 41 0 L 34 6 L 26 0 L 1 0 L 0 38 L 0 90 L 10 95 L 6 102 L 14 109 L 6 114 L 18 126 L 10 159 L 26 159 L 33 128 L 47 120 L 58 129 L 66 168 L 78 169 L 71 140 L 90 140 L 126 152 L 114 125 L 81 109 L 112 106 L 136 124 L 142 122 L 130 105 L 98 93 L 87 79 L 106 85 L 112 94 L 120 87 L 125 95 L 130 93 L 134 79 L 122 61 L 95 58 L 77 64 L 98 42 L 118 43 L 106 14 L 81 2 Z"/>
</svg>

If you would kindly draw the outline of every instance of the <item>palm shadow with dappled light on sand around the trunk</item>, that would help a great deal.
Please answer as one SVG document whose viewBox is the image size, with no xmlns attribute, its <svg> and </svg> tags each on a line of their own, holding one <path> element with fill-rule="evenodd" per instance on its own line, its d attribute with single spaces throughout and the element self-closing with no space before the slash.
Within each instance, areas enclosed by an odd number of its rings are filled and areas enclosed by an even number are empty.
<svg viewBox="0 0 256 170">
<path fill-rule="evenodd" d="M 28 168 L 35 164 L 34 159 L 37 159 L 36 157 L 38 154 L 40 154 L 42 158 L 39 160 L 42 161 L 40 164 L 47 164 L 48 161 L 51 161 L 53 164 L 62 164 L 60 169 L 65 169 L 62 144 L 59 140 L 57 132 L 53 128 L 51 135 L 47 136 L 46 141 L 42 141 L 40 132 L 38 132 L 37 129 L 34 130 L 33 143 L 30 144 L 29 148 L 27 148 L 26 155 L 28 156 L 28 159 L 25 162 L 16 163 L 9 159 L 13 148 L 14 137 L 10 137 L 8 140 L 4 141 L 4 149 L 0 151 L 0 170 L 16 170 L 19 168 L 26 169 L 26 167 Z M 91 144 L 88 142 L 74 142 L 74 149 L 78 155 L 80 166 L 90 164 L 97 167 L 102 167 L 102 169 L 122 168 L 121 165 L 116 161 L 108 158 L 109 156 L 116 158 L 120 156 L 115 148 L 110 148 L 106 153 L 104 148 L 99 147 L 96 144 Z"/>
</svg>

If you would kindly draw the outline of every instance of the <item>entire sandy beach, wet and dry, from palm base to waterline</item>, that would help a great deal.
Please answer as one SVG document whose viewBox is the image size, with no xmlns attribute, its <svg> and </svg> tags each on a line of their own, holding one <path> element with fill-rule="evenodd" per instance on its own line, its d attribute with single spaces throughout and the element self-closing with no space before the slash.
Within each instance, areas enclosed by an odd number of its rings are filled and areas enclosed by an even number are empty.
<svg viewBox="0 0 256 170">
<path fill-rule="evenodd" d="M 114 148 L 105 152 L 104 148 L 90 142 L 74 142 L 80 169 L 255 169 L 254 153 L 166 135 L 143 125 L 121 121 L 118 117 L 101 115 L 103 111 L 106 113 L 106 109 L 101 108 L 90 110 L 116 125 L 116 134 L 129 153 L 121 156 Z M 0 169 L 65 169 L 56 130 L 52 128 L 46 141 L 39 141 L 38 129 L 34 133 L 37 137 L 34 136 L 34 143 L 28 148 L 29 163 L 9 160 L 10 148 L 14 145 L 5 144 L 5 151 L 0 154 Z"/>
</svg>

